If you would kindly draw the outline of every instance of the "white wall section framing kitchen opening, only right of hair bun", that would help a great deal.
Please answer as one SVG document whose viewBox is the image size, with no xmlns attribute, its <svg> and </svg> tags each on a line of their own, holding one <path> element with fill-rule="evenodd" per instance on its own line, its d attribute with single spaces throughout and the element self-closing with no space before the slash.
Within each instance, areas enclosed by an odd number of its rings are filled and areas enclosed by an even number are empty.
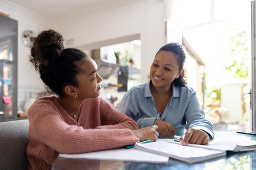
<svg viewBox="0 0 256 170">
<path fill-rule="evenodd" d="M 123 7 L 79 15 L 76 19 L 58 21 L 66 40 L 74 39 L 73 47 L 86 50 L 99 48 L 101 41 L 140 34 L 141 81 L 148 81 L 150 64 L 157 50 L 166 43 L 163 1 L 140 1 Z M 72 25 L 70 27 L 70 25 Z"/>
</svg>

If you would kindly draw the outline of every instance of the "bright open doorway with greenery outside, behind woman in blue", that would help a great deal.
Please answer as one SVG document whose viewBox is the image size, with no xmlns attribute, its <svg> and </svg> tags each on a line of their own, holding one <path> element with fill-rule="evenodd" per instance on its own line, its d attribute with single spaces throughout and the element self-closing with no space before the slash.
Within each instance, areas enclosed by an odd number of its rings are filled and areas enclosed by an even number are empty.
<svg viewBox="0 0 256 170">
<path fill-rule="evenodd" d="M 251 1 L 183 0 L 182 35 L 202 58 L 206 117 L 216 131 L 251 130 Z"/>
</svg>

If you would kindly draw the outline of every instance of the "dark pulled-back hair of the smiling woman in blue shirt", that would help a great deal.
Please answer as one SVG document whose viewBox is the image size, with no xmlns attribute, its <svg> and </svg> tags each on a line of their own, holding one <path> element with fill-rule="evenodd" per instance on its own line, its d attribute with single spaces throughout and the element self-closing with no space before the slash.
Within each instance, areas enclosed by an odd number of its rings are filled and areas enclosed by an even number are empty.
<svg viewBox="0 0 256 170">
<path fill-rule="evenodd" d="M 183 69 L 185 60 L 186 60 L 186 54 L 185 50 L 183 49 L 182 45 L 179 43 L 169 43 L 164 46 L 162 46 L 156 55 L 160 52 L 172 52 L 175 54 L 178 64 L 179 64 L 179 71 Z M 156 56 L 155 55 L 155 56 Z M 187 84 L 187 78 L 185 76 L 186 70 L 184 69 L 183 72 L 179 75 L 178 79 L 173 80 L 174 86 L 185 86 Z"/>
</svg>

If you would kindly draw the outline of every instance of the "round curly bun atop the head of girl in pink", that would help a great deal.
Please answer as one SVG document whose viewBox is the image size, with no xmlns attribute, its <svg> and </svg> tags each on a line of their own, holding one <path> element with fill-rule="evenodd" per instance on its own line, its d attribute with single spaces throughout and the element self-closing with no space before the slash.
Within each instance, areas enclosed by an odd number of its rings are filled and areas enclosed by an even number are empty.
<svg viewBox="0 0 256 170">
<path fill-rule="evenodd" d="M 61 56 L 63 41 L 63 37 L 55 30 L 42 31 L 35 38 L 30 54 L 37 64 L 46 66 Z"/>
</svg>

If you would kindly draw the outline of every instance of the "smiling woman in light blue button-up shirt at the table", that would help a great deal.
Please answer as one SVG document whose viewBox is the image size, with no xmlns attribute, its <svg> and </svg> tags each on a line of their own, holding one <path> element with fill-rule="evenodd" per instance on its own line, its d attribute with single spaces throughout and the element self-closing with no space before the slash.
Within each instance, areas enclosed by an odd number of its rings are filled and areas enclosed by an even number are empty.
<svg viewBox="0 0 256 170">
<path fill-rule="evenodd" d="M 178 43 L 161 47 L 150 67 L 150 81 L 131 88 L 123 97 L 119 111 L 135 120 L 140 128 L 153 125 L 164 138 L 183 137 L 182 145 L 206 145 L 214 136 L 205 119 L 196 92 L 186 85 L 183 64 L 186 55 Z M 186 132 L 186 133 L 185 133 Z"/>
</svg>

